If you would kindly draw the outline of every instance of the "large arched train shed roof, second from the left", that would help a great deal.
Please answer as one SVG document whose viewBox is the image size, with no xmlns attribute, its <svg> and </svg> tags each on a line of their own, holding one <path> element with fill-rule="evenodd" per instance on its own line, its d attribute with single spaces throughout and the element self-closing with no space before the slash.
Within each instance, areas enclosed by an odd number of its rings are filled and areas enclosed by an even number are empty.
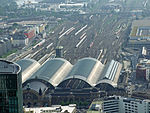
<svg viewBox="0 0 150 113">
<path fill-rule="evenodd" d="M 69 73 L 72 65 L 65 59 L 54 58 L 48 60 L 31 77 L 48 81 L 53 86 L 57 86 Z"/>
</svg>

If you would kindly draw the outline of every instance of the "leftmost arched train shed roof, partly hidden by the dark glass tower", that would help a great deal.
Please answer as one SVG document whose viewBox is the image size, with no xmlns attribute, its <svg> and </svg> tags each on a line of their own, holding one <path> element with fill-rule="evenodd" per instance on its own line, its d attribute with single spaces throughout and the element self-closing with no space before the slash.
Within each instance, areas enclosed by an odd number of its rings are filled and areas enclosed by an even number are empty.
<svg viewBox="0 0 150 113">
<path fill-rule="evenodd" d="M 33 59 L 21 59 L 16 63 L 19 64 L 22 69 L 22 83 L 30 78 L 30 76 L 41 66 L 37 61 Z"/>
</svg>

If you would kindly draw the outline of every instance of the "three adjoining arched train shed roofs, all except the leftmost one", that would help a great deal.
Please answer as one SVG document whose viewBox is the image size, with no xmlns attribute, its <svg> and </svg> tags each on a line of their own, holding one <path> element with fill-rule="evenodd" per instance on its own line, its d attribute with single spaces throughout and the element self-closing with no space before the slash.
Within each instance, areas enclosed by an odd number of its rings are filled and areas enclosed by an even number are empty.
<svg viewBox="0 0 150 113">
<path fill-rule="evenodd" d="M 48 60 L 26 81 L 43 80 L 49 87 L 81 89 L 89 87 L 117 86 L 122 64 L 112 60 L 105 66 L 94 58 L 82 58 L 72 66 L 62 58 Z M 45 81 L 45 82 L 44 82 Z M 25 83 L 25 84 L 26 84 Z M 35 82 L 34 82 L 35 83 Z M 33 84 L 32 84 L 33 86 Z"/>
</svg>

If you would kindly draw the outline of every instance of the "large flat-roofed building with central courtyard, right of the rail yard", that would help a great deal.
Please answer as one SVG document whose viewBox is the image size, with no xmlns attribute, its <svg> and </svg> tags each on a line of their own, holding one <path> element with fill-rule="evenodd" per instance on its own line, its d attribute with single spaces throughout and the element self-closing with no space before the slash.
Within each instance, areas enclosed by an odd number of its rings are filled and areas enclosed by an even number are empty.
<svg viewBox="0 0 150 113">
<path fill-rule="evenodd" d="M 149 48 L 150 44 L 150 20 L 135 20 L 132 23 L 131 33 L 129 36 L 129 46 Z"/>
</svg>

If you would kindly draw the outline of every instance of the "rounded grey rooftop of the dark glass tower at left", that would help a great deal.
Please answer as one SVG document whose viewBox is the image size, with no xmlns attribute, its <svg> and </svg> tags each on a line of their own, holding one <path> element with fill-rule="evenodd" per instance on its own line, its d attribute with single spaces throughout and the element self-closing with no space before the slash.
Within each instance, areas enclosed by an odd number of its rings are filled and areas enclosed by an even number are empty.
<svg viewBox="0 0 150 113">
<path fill-rule="evenodd" d="M 5 60 L 0 60 L 0 74 L 17 74 L 20 71 L 20 67 L 17 64 L 8 62 Z"/>
</svg>

